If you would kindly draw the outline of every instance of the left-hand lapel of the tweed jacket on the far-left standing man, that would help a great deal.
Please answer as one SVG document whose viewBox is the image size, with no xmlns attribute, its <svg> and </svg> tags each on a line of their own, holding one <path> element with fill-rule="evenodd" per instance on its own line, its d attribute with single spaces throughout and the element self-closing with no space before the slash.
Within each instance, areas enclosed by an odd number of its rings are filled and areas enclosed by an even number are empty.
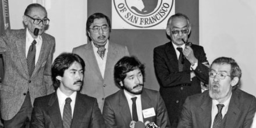
<svg viewBox="0 0 256 128">
<path fill-rule="evenodd" d="M 17 52 L 20 58 L 20 62 L 29 77 L 29 69 L 27 68 L 27 58 L 26 58 L 26 29 L 21 30 L 21 33 L 17 35 L 17 41 L 15 42 L 17 47 Z M 25 60 L 25 61 L 24 61 Z"/>
</svg>

